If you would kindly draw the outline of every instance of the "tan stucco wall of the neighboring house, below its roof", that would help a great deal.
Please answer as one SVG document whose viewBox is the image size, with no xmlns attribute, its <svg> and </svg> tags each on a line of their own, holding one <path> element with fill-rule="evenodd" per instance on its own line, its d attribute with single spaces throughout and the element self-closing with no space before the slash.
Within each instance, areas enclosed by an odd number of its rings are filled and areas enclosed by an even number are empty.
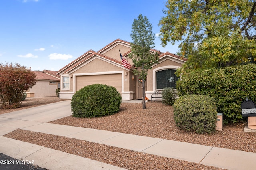
<svg viewBox="0 0 256 170">
<path fill-rule="evenodd" d="M 49 85 L 50 81 L 37 81 L 37 84 L 30 88 L 28 93 L 34 93 L 34 97 L 50 97 L 56 96 L 58 85 Z"/>
</svg>

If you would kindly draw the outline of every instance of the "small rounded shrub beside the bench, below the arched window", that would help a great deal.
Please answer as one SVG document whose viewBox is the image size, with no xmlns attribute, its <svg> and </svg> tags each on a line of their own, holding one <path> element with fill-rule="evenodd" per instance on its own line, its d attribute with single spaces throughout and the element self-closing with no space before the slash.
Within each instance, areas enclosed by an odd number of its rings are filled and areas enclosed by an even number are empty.
<svg viewBox="0 0 256 170">
<path fill-rule="evenodd" d="M 164 105 L 170 105 L 172 106 L 177 99 L 178 92 L 176 89 L 173 89 L 171 87 L 166 87 L 162 91 L 162 103 Z"/>
</svg>

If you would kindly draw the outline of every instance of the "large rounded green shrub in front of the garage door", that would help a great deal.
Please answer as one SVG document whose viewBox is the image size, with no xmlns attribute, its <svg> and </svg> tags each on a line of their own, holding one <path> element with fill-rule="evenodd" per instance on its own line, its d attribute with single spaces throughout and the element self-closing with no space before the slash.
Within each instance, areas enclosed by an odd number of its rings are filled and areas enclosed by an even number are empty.
<svg viewBox="0 0 256 170">
<path fill-rule="evenodd" d="M 115 87 L 93 84 L 76 91 L 71 99 L 74 117 L 100 117 L 117 113 L 122 97 Z"/>
</svg>

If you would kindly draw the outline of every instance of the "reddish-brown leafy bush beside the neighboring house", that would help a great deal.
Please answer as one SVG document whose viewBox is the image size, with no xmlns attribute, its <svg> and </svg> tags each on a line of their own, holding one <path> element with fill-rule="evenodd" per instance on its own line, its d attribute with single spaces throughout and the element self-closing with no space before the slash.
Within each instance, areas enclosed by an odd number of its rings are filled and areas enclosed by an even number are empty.
<svg viewBox="0 0 256 170">
<path fill-rule="evenodd" d="M 36 75 L 19 64 L 0 63 L 0 105 L 4 109 L 19 107 L 24 93 L 36 85 Z"/>
</svg>

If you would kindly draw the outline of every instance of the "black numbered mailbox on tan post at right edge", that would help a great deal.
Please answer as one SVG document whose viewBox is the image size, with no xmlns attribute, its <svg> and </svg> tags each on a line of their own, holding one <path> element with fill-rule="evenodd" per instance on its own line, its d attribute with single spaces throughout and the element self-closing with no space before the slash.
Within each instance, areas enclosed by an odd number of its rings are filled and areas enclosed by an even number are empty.
<svg viewBox="0 0 256 170">
<path fill-rule="evenodd" d="M 241 103 L 242 116 L 248 117 L 248 128 L 256 129 L 256 105 L 247 97 Z"/>
</svg>

